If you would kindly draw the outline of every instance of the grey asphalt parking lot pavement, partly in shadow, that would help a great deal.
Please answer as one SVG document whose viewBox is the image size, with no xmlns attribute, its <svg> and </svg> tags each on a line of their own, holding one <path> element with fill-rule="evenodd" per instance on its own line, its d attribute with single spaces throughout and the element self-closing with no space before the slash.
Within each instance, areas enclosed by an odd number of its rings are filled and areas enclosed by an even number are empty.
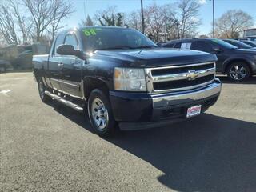
<svg viewBox="0 0 256 192">
<path fill-rule="evenodd" d="M 254 192 L 256 78 L 222 81 L 206 114 L 100 138 L 32 73 L 0 74 L 0 191 Z"/>
</svg>

